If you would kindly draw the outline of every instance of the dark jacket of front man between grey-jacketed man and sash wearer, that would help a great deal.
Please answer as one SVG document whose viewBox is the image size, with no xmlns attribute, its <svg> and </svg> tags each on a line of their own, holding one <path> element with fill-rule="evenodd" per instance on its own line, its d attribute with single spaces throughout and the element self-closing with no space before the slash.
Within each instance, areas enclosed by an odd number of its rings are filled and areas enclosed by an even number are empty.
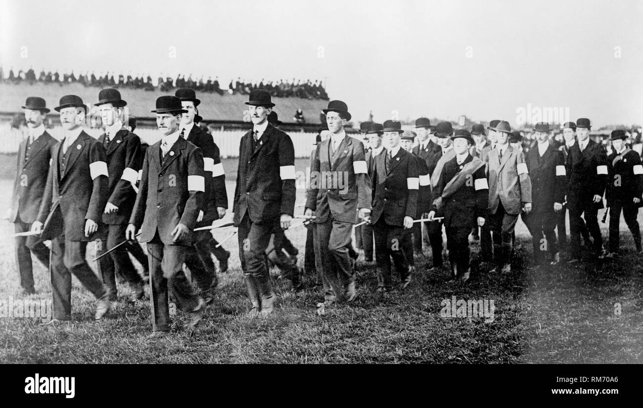
<svg viewBox="0 0 643 408">
<path fill-rule="evenodd" d="M 371 223 L 376 224 L 380 217 L 384 217 L 390 226 L 403 226 L 404 217 L 417 216 L 417 195 L 419 190 L 419 174 L 417 171 L 416 155 L 400 148 L 392 157 L 386 171 L 386 154 L 379 154 L 375 158 L 373 181 L 375 199 Z"/>
</svg>

